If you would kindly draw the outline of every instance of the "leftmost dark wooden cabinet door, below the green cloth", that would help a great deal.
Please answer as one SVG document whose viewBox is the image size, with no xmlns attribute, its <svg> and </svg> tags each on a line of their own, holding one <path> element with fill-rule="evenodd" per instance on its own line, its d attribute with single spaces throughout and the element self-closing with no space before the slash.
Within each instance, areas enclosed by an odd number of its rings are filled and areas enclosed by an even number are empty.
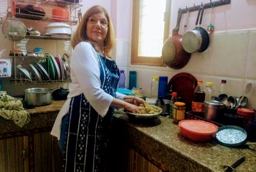
<svg viewBox="0 0 256 172">
<path fill-rule="evenodd" d="M 29 171 L 28 136 L 0 140 L 0 171 Z"/>
</svg>

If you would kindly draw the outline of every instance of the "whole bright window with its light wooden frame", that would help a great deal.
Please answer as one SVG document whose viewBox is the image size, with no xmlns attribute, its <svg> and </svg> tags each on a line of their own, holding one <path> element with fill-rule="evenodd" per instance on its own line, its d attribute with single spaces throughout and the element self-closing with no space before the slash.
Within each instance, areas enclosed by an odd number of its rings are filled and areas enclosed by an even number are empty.
<svg viewBox="0 0 256 172">
<path fill-rule="evenodd" d="M 133 0 L 131 63 L 163 66 L 164 40 L 170 31 L 171 0 Z"/>
</svg>

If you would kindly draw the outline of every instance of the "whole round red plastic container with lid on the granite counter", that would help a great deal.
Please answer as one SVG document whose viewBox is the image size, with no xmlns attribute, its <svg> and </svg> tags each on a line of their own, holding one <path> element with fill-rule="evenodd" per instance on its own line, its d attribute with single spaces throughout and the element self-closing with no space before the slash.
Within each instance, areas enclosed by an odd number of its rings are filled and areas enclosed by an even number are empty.
<svg viewBox="0 0 256 172">
<path fill-rule="evenodd" d="M 218 126 L 204 120 L 181 120 L 180 133 L 193 141 L 209 141 L 218 130 Z"/>
</svg>

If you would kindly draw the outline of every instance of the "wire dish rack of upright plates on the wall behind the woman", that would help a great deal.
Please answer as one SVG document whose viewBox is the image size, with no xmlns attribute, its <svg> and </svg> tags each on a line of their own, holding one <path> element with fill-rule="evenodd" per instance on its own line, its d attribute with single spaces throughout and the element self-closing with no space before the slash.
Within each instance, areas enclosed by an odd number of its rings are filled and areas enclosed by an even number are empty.
<svg viewBox="0 0 256 172">
<path fill-rule="evenodd" d="M 52 61 L 52 58 L 48 56 L 11 56 L 11 58 L 13 75 L 10 81 L 12 85 L 71 82 L 69 65 L 65 59 L 63 59 L 65 61 L 65 71 L 58 78 L 57 73 L 52 76 L 52 71 L 53 73 L 56 72 L 58 66 L 53 66 L 54 63 L 51 64 L 52 66 L 49 63 L 46 67 L 44 65 L 45 62 Z M 63 66 L 63 63 L 61 65 Z"/>
</svg>

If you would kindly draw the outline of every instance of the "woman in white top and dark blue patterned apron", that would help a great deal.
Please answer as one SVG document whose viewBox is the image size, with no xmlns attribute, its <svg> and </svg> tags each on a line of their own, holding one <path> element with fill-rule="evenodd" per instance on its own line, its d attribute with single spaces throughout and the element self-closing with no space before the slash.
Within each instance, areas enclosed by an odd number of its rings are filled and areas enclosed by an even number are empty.
<svg viewBox="0 0 256 172">
<path fill-rule="evenodd" d="M 108 59 L 114 42 L 108 12 L 88 9 L 72 39 L 70 93 L 51 132 L 58 137 L 64 171 L 102 171 L 113 107 L 136 113 L 145 104 L 116 92 L 119 69 Z"/>
</svg>

